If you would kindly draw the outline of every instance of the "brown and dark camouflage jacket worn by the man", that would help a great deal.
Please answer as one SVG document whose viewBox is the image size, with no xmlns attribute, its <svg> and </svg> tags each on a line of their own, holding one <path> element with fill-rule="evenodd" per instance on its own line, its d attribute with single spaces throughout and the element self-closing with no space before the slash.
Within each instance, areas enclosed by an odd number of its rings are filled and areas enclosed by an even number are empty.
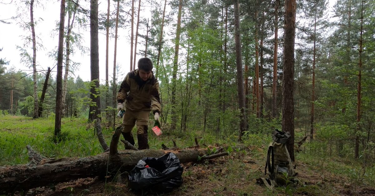
<svg viewBox="0 0 375 196">
<path fill-rule="evenodd" d="M 138 69 L 135 69 L 130 71 L 122 81 L 117 93 L 117 101 L 123 103 L 127 100 L 125 107 L 132 111 L 152 110 L 153 113 L 160 114 L 159 91 L 159 82 L 153 73 L 148 80 L 144 81 L 139 77 Z"/>
</svg>

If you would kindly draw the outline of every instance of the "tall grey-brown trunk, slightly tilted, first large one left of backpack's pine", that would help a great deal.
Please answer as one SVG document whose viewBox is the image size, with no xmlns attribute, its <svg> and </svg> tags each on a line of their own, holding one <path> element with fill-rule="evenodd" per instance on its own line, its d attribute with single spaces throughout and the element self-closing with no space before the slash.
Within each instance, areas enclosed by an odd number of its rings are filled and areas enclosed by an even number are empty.
<svg viewBox="0 0 375 196">
<path fill-rule="evenodd" d="M 241 111 L 239 140 L 242 140 L 242 135 L 246 131 L 247 122 L 246 122 L 246 111 L 245 111 L 245 95 L 244 95 L 244 90 L 243 90 L 239 9 L 240 9 L 239 0 L 234 0 L 234 42 L 236 45 L 237 90 L 238 90 L 239 107 Z"/>
</svg>

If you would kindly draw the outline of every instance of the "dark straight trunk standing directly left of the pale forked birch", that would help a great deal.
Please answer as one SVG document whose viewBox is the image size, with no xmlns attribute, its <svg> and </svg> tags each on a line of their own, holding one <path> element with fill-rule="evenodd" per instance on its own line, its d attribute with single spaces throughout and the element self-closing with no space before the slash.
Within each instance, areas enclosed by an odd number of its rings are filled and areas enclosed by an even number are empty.
<svg viewBox="0 0 375 196">
<path fill-rule="evenodd" d="M 57 49 L 55 137 L 59 137 L 61 133 L 64 24 L 65 24 L 65 0 L 61 0 L 60 27 L 59 27 L 59 32 L 58 32 L 58 49 Z"/>
</svg>

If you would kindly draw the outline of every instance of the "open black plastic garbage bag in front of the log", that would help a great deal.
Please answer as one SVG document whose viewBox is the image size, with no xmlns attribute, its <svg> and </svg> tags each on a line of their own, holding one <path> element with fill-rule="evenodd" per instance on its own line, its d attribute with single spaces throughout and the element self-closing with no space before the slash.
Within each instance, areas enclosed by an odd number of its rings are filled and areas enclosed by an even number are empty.
<svg viewBox="0 0 375 196">
<path fill-rule="evenodd" d="M 183 170 L 180 160 L 171 152 L 159 158 L 145 157 L 129 172 L 128 186 L 132 190 L 167 193 L 182 184 Z"/>
</svg>

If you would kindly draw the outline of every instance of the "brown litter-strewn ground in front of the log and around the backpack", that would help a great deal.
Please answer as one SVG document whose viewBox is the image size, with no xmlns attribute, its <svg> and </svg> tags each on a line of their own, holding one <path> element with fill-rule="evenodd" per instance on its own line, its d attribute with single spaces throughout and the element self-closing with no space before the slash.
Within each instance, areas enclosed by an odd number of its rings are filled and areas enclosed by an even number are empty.
<svg viewBox="0 0 375 196">
<path fill-rule="evenodd" d="M 293 195 L 375 195 L 375 190 L 355 187 L 348 183 L 345 176 L 329 172 L 316 171 L 305 163 L 296 162 L 296 171 L 300 185 L 293 188 Z M 256 178 L 265 177 L 264 161 L 254 160 L 251 154 L 234 152 L 201 164 L 183 164 L 183 184 L 171 193 L 147 193 L 129 190 L 126 179 L 122 182 L 85 178 L 73 182 L 57 184 L 55 187 L 41 187 L 29 190 L 27 195 L 62 196 L 120 196 L 120 195 L 180 195 L 180 196 L 248 196 L 248 195 L 285 195 L 285 188 L 269 190 L 258 185 Z M 321 176 L 324 176 L 323 179 Z M 111 181 L 111 182 L 110 182 Z"/>
</svg>

